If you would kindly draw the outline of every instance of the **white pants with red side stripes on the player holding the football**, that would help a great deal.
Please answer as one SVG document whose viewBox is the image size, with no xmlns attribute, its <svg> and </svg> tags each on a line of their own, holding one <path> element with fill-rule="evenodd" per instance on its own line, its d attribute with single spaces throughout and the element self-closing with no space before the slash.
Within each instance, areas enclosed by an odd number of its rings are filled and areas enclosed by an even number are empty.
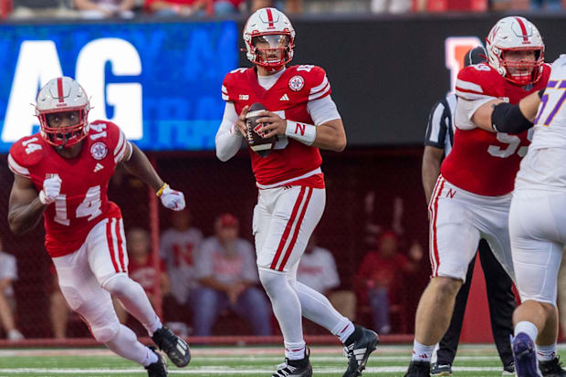
<svg viewBox="0 0 566 377">
<path fill-rule="evenodd" d="M 287 272 L 299 263 L 324 212 L 325 189 L 286 187 L 259 190 L 252 225 L 259 268 Z"/>
</svg>

